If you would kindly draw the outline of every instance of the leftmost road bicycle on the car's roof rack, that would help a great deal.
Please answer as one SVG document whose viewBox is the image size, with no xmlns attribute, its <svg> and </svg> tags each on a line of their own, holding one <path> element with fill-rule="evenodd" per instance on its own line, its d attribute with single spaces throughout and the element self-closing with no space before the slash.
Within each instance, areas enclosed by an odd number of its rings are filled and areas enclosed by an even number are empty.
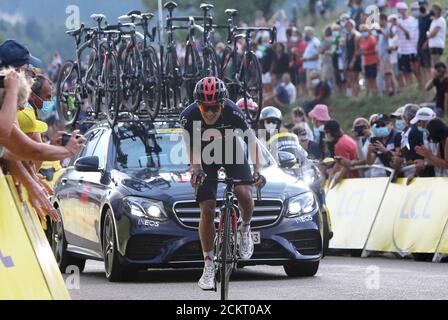
<svg viewBox="0 0 448 320">
<path fill-rule="evenodd" d="M 103 27 L 106 17 L 102 14 L 92 14 L 91 18 L 96 28 L 81 25 L 66 32 L 76 41 L 76 60 L 62 65 L 56 83 L 56 106 L 66 126 L 76 125 L 82 109 L 93 113 L 95 119 L 104 112 L 111 125 L 117 121 L 120 79 L 115 47 L 120 31 Z M 87 49 L 91 53 L 84 69 L 81 56 Z"/>
</svg>

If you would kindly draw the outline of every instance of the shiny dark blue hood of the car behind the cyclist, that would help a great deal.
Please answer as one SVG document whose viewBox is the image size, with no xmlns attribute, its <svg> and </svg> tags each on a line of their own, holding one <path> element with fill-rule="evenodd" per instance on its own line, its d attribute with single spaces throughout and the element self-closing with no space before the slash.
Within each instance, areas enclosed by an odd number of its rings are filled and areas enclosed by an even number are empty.
<svg viewBox="0 0 448 320">
<path fill-rule="evenodd" d="M 278 167 L 269 167 L 261 171 L 266 177 L 266 185 L 262 189 L 262 198 L 285 200 L 291 196 L 309 191 L 309 187 L 297 178 L 286 174 Z M 190 184 L 191 172 L 161 172 L 156 170 L 115 172 L 114 180 L 119 181 L 127 193 L 133 196 L 151 198 L 164 202 L 195 199 L 194 189 Z M 218 197 L 224 191 L 224 185 L 218 185 Z M 253 191 L 254 198 L 256 190 Z"/>
</svg>

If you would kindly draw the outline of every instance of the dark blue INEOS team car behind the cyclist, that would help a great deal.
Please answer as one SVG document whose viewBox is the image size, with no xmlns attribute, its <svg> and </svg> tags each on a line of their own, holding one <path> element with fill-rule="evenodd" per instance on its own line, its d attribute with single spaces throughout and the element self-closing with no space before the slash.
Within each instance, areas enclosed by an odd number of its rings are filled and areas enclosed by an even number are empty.
<svg viewBox="0 0 448 320">
<path fill-rule="evenodd" d="M 202 267 L 199 206 L 178 122 L 97 124 L 55 186 L 62 222 L 51 245 L 62 272 L 103 260 L 110 281 L 148 268 Z M 245 145 L 245 144 L 244 144 Z M 252 220 L 255 250 L 241 266 L 280 265 L 313 276 L 322 258 L 322 215 L 310 188 L 263 149 L 267 184 Z M 224 186 L 218 186 L 217 210 Z"/>
</svg>

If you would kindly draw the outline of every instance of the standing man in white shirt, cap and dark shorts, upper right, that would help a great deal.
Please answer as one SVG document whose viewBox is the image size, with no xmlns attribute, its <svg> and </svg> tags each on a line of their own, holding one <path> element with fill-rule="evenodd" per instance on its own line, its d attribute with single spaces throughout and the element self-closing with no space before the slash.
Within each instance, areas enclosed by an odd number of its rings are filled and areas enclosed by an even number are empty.
<svg viewBox="0 0 448 320">
<path fill-rule="evenodd" d="M 405 2 L 397 3 L 396 9 L 399 19 L 392 22 L 391 36 L 398 36 L 398 67 L 404 75 L 406 86 L 412 83 L 412 72 L 422 86 L 417 68 L 418 20 L 407 15 L 408 5 Z"/>
</svg>

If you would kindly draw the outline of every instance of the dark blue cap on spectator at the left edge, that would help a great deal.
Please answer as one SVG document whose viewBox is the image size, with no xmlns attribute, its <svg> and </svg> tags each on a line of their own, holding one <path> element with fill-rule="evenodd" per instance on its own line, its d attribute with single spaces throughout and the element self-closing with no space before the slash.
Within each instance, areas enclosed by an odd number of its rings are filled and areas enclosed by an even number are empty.
<svg viewBox="0 0 448 320">
<path fill-rule="evenodd" d="M 10 39 L 0 45 L 0 66 L 18 68 L 26 64 L 43 68 L 42 61 L 32 56 L 23 44 Z"/>
</svg>

